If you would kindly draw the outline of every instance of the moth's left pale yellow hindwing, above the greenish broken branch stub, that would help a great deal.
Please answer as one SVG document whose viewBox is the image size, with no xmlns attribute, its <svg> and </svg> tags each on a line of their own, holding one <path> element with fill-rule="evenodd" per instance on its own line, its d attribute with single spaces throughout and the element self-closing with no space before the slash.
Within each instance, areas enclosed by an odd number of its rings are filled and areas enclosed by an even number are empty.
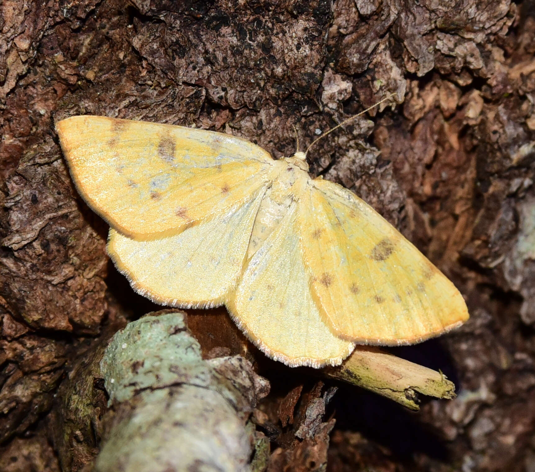
<svg viewBox="0 0 535 472">
<path fill-rule="evenodd" d="M 132 287 L 152 301 L 182 308 L 220 305 L 241 276 L 264 192 L 167 238 L 136 241 L 110 229 L 108 254 Z"/>
</svg>

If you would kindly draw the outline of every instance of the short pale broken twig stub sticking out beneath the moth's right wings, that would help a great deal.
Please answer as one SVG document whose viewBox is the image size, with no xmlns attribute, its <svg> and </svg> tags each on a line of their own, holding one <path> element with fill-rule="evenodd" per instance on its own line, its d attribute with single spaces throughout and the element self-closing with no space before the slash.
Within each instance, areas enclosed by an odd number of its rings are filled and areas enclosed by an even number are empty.
<svg viewBox="0 0 535 472">
<path fill-rule="evenodd" d="M 361 386 L 417 411 L 418 393 L 436 398 L 455 397 L 455 385 L 441 372 L 388 354 L 376 347 L 357 346 L 340 366 L 325 375 Z"/>
</svg>

